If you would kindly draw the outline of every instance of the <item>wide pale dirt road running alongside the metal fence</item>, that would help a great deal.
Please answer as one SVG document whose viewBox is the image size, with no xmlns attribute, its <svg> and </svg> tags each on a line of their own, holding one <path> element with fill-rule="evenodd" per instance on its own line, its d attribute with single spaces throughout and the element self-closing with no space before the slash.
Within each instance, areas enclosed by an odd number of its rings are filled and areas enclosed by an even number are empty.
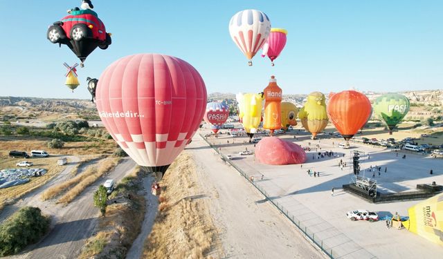
<svg viewBox="0 0 443 259">
<path fill-rule="evenodd" d="M 201 191 L 224 254 L 216 258 L 324 258 L 301 234 L 248 184 L 235 169 L 201 140 L 192 139 L 188 151 L 195 157 Z"/>
</svg>

